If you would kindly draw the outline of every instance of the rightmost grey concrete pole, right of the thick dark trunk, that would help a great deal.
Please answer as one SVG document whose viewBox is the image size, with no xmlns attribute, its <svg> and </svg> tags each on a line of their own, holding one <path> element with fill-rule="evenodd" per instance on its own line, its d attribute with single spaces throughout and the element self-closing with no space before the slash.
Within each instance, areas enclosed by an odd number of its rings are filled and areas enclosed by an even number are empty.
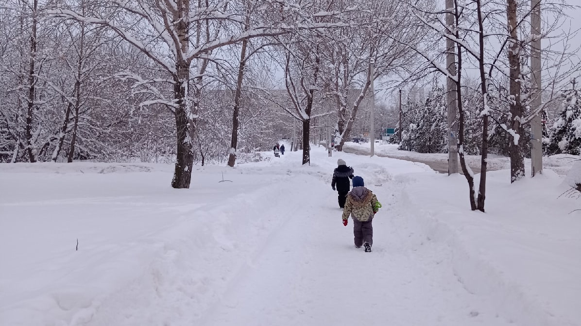
<svg viewBox="0 0 581 326">
<path fill-rule="evenodd" d="M 530 49 L 530 67 L 532 68 L 530 79 L 533 81 L 532 110 L 541 107 L 541 0 L 530 0 L 530 35 L 533 36 Z M 543 173 L 543 126 L 541 115 L 536 114 L 530 121 L 530 150 L 531 175 Z"/>
</svg>

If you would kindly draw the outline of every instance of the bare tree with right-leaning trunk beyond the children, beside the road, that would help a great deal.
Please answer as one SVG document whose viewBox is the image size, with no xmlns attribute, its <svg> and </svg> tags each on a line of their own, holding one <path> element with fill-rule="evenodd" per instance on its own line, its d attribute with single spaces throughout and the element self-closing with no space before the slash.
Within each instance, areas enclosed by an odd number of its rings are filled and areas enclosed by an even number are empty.
<svg viewBox="0 0 581 326">
<path fill-rule="evenodd" d="M 396 75 L 413 65 L 414 52 L 402 43 L 417 44 L 417 34 L 425 29 L 421 24 L 412 23 L 414 16 L 407 13 L 405 2 L 371 1 L 366 6 L 365 15 L 353 17 L 352 26 L 332 31 L 333 37 L 321 43 L 325 46 L 323 60 L 332 67 L 322 78 L 327 79 L 326 96 L 336 100 L 338 150 L 342 150 L 357 111 L 368 96 L 370 80 Z M 375 62 L 372 78 L 369 75 L 371 59 Z"/>
</svg>

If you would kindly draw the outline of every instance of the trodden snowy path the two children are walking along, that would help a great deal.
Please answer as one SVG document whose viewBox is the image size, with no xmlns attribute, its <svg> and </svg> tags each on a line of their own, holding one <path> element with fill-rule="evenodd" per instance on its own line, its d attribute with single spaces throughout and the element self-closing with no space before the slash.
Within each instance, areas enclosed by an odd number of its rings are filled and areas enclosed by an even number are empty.
<svg viewBox="0 0 581 326">
<path fill-rule="evenodd" d="M 376 191 L 388 207 L 376 216 L 373 252 L 364 253 L 353 247 L 352 221 L 340 223 L 328 184 L 311 180 L 310 188 L 287 194 L 294 209 L 281 209 L 286 222 L 200 325 L 509 324 L 462 287 L 449 248 L 410 229 L 400 195 Z"/>
</svg>

